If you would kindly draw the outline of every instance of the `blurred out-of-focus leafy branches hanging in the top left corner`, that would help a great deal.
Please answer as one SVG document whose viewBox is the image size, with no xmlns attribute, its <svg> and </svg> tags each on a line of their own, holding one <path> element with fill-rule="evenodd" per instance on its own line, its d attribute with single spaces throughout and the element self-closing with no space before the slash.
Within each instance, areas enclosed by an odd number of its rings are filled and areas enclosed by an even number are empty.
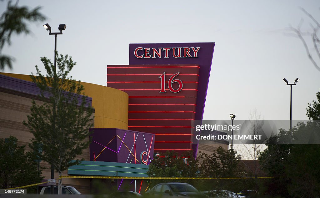
<svg viewBox="0 0 320 198">
<path fill-rule="evenodd" d="M 40 7 L 29 10 L 27 6 L 18 6 L 18 1 L 12 4 L 8 1 L 7 9 L 0 17 L 0 69 L 5 66 L 12 68 L 11 56 L 2 54 L 5 44 L 11 45 L 10 38 L 12 34 L 30 33 L 27 22 L 44 21 L 45 17 L 40 12 Z"/>
</svg>

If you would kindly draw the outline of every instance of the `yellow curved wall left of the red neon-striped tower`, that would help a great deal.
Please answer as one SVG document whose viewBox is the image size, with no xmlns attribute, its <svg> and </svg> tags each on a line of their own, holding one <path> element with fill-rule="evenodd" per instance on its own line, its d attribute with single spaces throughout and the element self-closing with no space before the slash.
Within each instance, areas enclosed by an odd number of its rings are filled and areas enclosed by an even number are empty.
<svg viewBox="0 0 320 198">
<path fill-rule="evenodd" d="M 2 75 L 31 81 L 29 75 L 3 73 Z M 85 95 L 92 97 L 95 109 L 94 128 L 121 128 L 128 130 L 128 94 L 102 85 L 81 82 Z"/>
</svg>

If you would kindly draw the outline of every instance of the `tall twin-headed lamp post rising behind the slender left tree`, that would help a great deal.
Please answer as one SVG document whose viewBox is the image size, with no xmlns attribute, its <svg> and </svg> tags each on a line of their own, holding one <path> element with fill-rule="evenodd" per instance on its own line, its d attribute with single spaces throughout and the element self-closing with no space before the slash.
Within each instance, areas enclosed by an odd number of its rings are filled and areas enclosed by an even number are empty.
<svg viewBox="0 0 320 198">
<path fill-rule="evenodd" d="M 57 35 L 62 34 L 62 30 L 66 29 L 66 24 L 60 24 L 58 29 L 60 32 L 51 32 L 51 27 L 48 23 L 44 24 L 43 27 L 49 31 L 49 35 L 54 35 L 54 76 L 53 78 L 57 78 Z M 56 103 L 53 102 L 52 104 L 52 109 L 53 109 L 53 130 L 55 130 L 55 117 L 56 117 Z M 54 179 L 54 166 L 51 165 L 51 179 Z M 53 185 L 50 186 L 50 193 L 53 194 Z"/>
</svg>

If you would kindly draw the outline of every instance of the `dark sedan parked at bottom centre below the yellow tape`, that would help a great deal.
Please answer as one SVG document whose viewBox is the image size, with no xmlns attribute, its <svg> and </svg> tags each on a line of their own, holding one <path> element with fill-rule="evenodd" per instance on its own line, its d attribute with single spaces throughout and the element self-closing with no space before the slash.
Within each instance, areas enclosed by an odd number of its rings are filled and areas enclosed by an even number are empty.
<svg viewBox="0 0 320 198">
<path fill-rule="evenodd" d="M 161 183 L 151 188 L 147 194 L 152 196 L 188 196 L 188 197 L 208 197 L 199 192 L 195 187 L 186 183 Z"/>
</svg>

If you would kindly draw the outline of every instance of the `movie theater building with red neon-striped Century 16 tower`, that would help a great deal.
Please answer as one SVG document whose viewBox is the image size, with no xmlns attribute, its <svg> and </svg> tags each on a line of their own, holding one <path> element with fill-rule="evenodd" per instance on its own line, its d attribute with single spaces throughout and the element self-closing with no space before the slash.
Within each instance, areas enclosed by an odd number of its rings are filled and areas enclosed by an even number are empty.
<svg viewBox="0 0 320 198">
<path fill-rule="evenodd" d="M 107 66 L 107 87 L 84 83 L 87 102 L 95 109 L 92 143 L 69 167 L 68 176 L 148 177 L 148 165 L 166 151 L 212 153 L 228 142 L 198 144 L 193 122 L 202 120 L 214 43 L 130 44 L 128 65 Z M 20 145 L 32 135 L 22 125 L 39 89 L 28 75 L 0 73 L 0 138 L 16 136 Z M 41 103 L 41 101 L 37 101 Z M 41 167 L 49 167 L 40 162 Z M 45 179 L 50 170 L 44 169 Z M 58 175 L 55 176 L 56 178 Z M 63 178 L 81 193 L 89 178 Z M 148 181 L 106 180 L 116 190 L 144 192 Z"/>
</svg>

